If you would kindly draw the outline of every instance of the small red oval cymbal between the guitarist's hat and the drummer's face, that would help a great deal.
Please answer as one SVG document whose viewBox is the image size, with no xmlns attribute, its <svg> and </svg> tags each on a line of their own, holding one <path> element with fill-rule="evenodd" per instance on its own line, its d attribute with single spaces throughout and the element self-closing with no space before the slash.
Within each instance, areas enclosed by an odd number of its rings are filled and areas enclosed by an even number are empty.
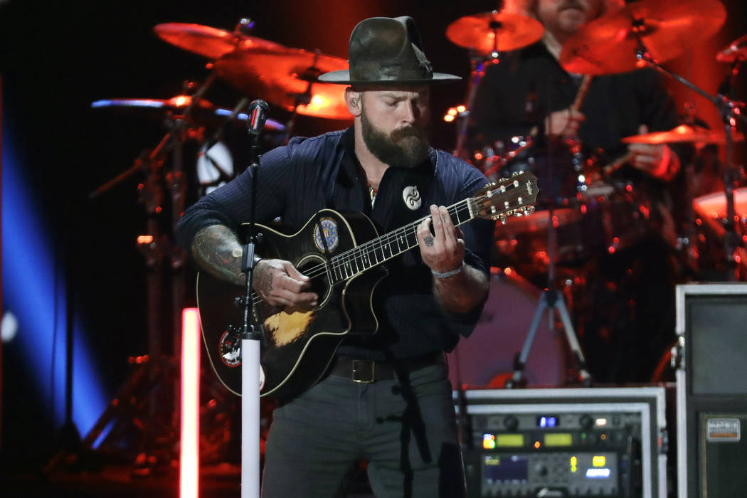
<svg viewBox="0 0 747 498">
<path fill-rule="evenodd" d="M 460 17 L 446 28 L 453 43 L 482 54 L 521 49 L 542 38 L 544 32 L 542 24 L 531 17 L 498 10 Z"/>
</svg>

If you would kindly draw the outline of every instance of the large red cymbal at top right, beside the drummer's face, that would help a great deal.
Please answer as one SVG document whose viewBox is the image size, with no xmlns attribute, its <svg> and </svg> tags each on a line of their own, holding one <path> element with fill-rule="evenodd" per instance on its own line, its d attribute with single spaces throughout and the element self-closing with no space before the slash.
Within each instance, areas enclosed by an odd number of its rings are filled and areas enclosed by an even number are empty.
<svg viewBox="0 0 747 498">
<path fill-rule="evenodd" d="M 584 75 L 633 71 L 639 32 L 648 54 L 658 62 L 681 55 L 698 40 L 716 33 L 726 20 L 718 0 L 639 0 L 580 28 L 560 52 L 560 64 Z"/>
</svg>

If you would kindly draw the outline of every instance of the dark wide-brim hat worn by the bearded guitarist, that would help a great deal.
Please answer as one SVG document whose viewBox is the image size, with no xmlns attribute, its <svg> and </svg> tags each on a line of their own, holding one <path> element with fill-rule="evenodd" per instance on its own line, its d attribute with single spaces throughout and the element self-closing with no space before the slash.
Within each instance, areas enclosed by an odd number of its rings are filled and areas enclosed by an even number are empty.
<svg viewBox="0 0 747 498">
<path fill-rule="evenodd" d="M 350 34 L 348 66 L 325 72 L 319 81 L 339 84 L 435 84 L 460 80 L 433 72 L 412 17 L 371 17 Z"/>
</svg>

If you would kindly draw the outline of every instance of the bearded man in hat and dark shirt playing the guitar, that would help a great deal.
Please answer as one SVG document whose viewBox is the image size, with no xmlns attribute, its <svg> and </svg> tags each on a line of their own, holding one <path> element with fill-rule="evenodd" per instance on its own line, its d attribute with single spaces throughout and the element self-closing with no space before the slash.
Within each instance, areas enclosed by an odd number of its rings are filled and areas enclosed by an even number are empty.
<svg viewBox="0 0 747 498">
<path fill-rule="evenodd" d="M 301 228 L 332 208 L 368 215 L 382 234 L 425 217 L 419 250 L 387 262 L 388 278 L 373 295 L 376 334 L 356 337 L 352 323 L 328 375 L 273 412 L 262 494 L 335 497 L 350 467 L 365 460 L 376 496 L 463 496 L 444 352 L 471 333 L 482 311 L 493 225 L 478 220 L 462 231 L 444 206 L 487 180 L 429 146 L 429 87 L 458 78 L 433 72 L 412 19 L 360 22 L 349 62 L 349 70 L 320 80 L 348 85 L 353 126 L 264 154 L 256 219 L 281 217 Z M 200 267 L 236 284 L 245 276 L 235 231 L 250 214 L 252 174 L 200 199 L 178 227 Z M 327 228 L 320 252 L 336 243 Z M 281 259 L 259 261 L 253 284 L 273 306 L 309 309 L 322 299 L 308 276 Z"/>
</svg>

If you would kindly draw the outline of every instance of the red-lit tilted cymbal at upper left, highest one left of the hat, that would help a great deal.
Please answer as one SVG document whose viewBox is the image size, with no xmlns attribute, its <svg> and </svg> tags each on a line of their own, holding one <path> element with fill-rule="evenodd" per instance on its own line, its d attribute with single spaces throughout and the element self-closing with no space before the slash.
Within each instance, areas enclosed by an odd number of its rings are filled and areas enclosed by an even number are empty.
<svg viewBox="0 0 747 498">
<path fill-rule="evenodd" d="M 188 22 L 166 22 L 153 28 L 161 40 L 209 59 L 217 59 L 234 50 L 280 50 L 282 45 L 234 33 L 223 29 L 211 28 Z"/>
</svg>

